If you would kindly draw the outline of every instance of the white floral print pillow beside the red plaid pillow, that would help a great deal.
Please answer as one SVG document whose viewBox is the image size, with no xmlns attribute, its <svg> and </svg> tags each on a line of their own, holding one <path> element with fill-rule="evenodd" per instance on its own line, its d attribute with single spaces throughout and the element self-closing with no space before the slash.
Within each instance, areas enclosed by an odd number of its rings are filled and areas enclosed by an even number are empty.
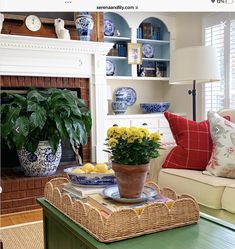
<svg viewBox="0 0 235 249">
<path fill-rule="evenodd" d="M 213 150 L 206 167 L 215 176 L 235 178 L 235 124 L 215 112 L 208 112 Z"/>
</svg>

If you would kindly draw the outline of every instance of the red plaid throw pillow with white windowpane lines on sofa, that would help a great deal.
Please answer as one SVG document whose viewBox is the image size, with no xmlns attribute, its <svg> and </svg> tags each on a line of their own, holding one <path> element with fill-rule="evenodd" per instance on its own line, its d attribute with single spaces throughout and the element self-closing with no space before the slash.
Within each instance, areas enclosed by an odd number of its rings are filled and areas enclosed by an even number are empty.
<svg viewBox="0 0 235 249">
<path fill-rule="evenodd" d="M 177 146 L 167 155 L 162 167 L 204 170 L 210 160 L 213 145 L 208 121 L 195 122 L 169 112 L 164 115 Z"/>
</svg>

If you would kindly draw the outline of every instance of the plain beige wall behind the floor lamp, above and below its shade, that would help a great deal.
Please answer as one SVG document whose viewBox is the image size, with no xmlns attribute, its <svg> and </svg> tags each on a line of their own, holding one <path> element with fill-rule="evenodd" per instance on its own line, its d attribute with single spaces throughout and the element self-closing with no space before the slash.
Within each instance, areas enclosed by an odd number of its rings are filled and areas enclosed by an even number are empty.
<svg viewBox="0 0 235 249">
<path fill-rule="evenodd" d="M 177 48 L 202 45 L 202 18 L 206 13 L 175 13 Z M 193 59 L 193 58 L 192 58 Z M 192 118 L 192 96 L 188 90 L 192 85 L 163 86 L 164 100 L 170 101 L 174 112 L 185 112 Z M 202 86 L 197 85 L 197 120 L 202 118 Z"/>
</svg>

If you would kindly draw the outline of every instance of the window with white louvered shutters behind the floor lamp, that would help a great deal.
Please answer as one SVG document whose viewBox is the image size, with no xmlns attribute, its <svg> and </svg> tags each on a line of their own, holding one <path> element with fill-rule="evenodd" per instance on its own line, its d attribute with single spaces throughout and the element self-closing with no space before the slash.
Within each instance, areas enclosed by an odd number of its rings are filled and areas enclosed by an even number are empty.
<svg viewBox="0 0 235 249">
<path fill-rule="evenodd" d="M 235 13 L 204 18 L 204 44 L 216 48 L 221 80 L 204 86 L 204 114 L 235 108 Z"/>
</svg>

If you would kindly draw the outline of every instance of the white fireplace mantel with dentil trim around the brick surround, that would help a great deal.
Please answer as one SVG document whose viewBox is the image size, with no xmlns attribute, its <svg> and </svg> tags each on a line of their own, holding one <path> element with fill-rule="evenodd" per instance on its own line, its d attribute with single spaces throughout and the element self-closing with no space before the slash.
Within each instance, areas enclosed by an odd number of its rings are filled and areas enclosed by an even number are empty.
<svg viewBox="0 0 235 249">
<path fill-rule="evenodd" d="M 0 75 L 89 78 L 94 162 L 107 161 L 105 56 L 112 45 L 0 34 Z"/>
</svg>

